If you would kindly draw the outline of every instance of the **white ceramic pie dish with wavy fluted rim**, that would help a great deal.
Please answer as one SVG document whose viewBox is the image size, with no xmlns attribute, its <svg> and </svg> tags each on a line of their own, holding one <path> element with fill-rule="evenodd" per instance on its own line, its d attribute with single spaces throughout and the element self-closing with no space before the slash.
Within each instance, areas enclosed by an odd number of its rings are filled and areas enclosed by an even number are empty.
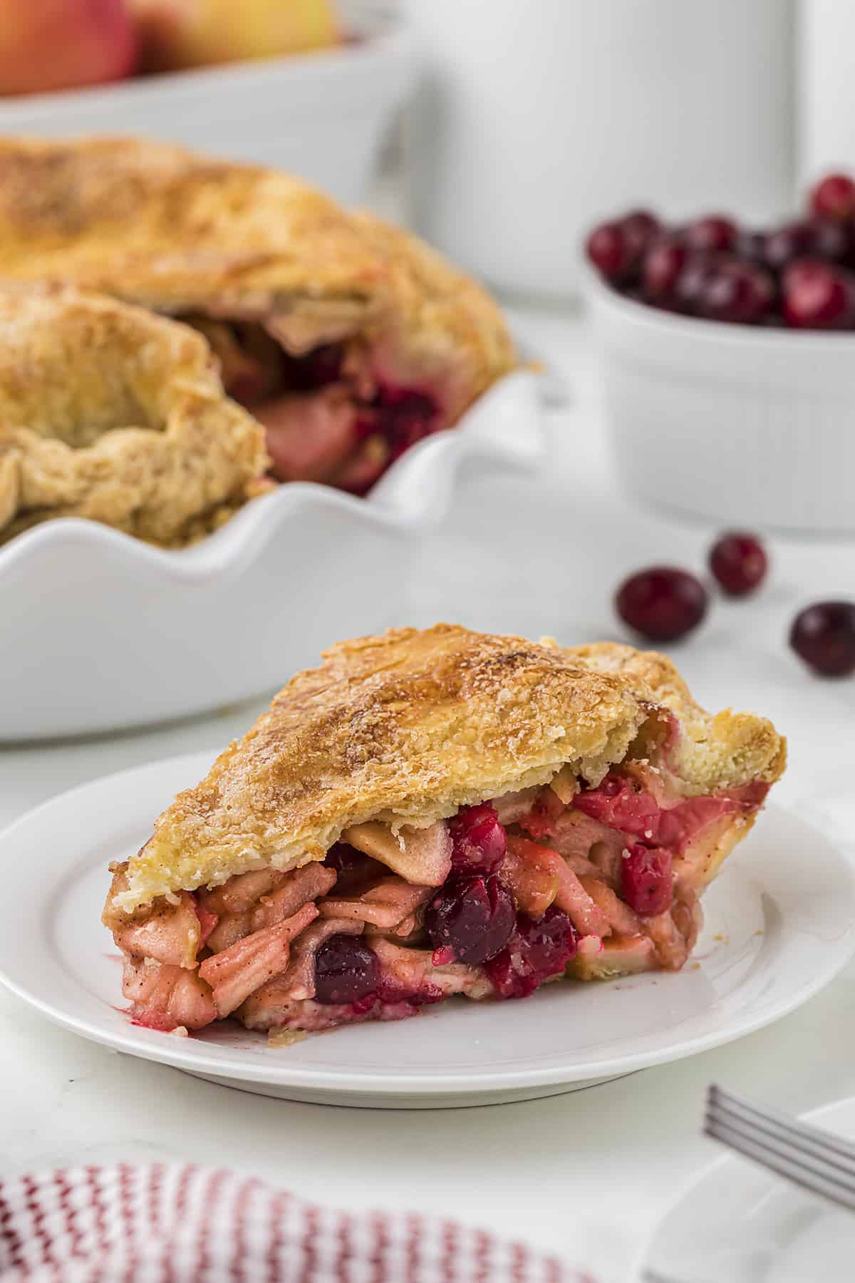
<svg viewBox="0 0 855 1283">
<path fill-rule="evenodd" d="M 500 380 L 359 499 L 295 482 L 181 552 L 79 518 L 0 547 L 0 740 L 138 726 L 282 684 L 337 636 L 400 624 L 414 541 L 469 462 L 535 471 L 537 377 Z"/>
</svg>

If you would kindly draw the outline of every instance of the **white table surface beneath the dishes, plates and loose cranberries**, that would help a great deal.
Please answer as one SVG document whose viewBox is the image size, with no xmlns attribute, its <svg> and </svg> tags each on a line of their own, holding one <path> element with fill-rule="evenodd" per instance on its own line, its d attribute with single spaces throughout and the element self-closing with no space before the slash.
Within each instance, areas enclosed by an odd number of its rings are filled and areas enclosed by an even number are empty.
<svg viewBox="0 0 855 1283">
<path fill-rule="evenodd" d="M 656 559 L 701 563 L 710 531 L 627 503 L 626 523 L 610 536 L 622 549 L 613 576 L 586 580 L 597 497 L 610 494 L 587 328 L 555 312 L 518 309 L 515 319 L 572 384 L 572 404 L 549 416 L 551 464 L 533 481 L 465 479 L 455 516 L 423 548 L 406 622 L 460 620 L 567 642 L 614 636 L 617 579 Z M 851 840 L 855 681 L 810 677 L 783 638 L 800 603 L 851 595 L 855 545 L 776 540 L 773 553 L 761 598 L 718 606 L 676 656 L 708 706 L 754 706 L 790 734 L 778 799 L 800 802 Z M 0 825 L 105 772 L 194 749 L 213 756 L 265 703 L 3 748 Z M 1 990 L 0 1048 L 0 1173 L 119 1156 L 231 1164 L 328 1203 L 452 1214 L 623 1280 L 668 1205 L 717 1157 L 700 1135 L 708 1083 L 795 1111 L 855 1093 L 855 966 L 732 1046 L 585 1092 L 487 1109 L 347 1110 L 251 1096 L 86 1043 Z"/>
</svg>

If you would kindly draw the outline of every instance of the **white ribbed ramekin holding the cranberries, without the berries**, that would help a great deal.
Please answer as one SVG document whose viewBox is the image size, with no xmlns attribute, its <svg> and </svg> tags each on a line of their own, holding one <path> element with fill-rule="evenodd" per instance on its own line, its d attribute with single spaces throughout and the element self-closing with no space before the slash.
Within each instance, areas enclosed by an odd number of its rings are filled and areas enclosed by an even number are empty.
<svg viewBox="0 0 855 1283">
<path fill-rule="evenodd" d="M 590 281 L 615 468 L 729 525 L 855 532 L 855 334 L 672 316 Z"/>
</svg>

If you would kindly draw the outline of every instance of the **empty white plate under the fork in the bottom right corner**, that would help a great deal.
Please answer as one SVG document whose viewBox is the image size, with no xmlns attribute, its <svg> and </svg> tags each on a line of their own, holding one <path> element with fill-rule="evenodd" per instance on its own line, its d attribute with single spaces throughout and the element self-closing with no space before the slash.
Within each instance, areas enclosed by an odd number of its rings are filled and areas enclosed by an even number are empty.
<svg viewBox="0 0 855 1283">
<path fill-rule="evenodd" d="M 855 1141 L 855 1097 L 802 1117 Z M 851 1212 L 733 1156 L 708 1168 L 672 1207 L 654 1234 L 640 1278 L 831 1283 L 852 1277 L 854 1243 Z"/>
</svg>

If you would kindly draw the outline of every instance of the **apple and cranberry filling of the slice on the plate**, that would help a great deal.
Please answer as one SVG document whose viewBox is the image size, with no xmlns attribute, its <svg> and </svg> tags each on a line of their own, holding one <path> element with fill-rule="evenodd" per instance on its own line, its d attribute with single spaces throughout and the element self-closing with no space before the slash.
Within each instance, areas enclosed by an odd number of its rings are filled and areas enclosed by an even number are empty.
<svg viewBox="0 0 855 1283">
<path fill-rule="evenodd" d="M 454 994 L 524 998 L 564 975 L 678 971 L 699 897 L 767 792 L 692 797 L 664 766 L 629 760 L 596 788 L 564 767 L 428 829 L 360 824 L 323 863 L 114 916 L 123 993 L 153 1029 L 236 1016 L 320 1030 Z"/>
</svg>

